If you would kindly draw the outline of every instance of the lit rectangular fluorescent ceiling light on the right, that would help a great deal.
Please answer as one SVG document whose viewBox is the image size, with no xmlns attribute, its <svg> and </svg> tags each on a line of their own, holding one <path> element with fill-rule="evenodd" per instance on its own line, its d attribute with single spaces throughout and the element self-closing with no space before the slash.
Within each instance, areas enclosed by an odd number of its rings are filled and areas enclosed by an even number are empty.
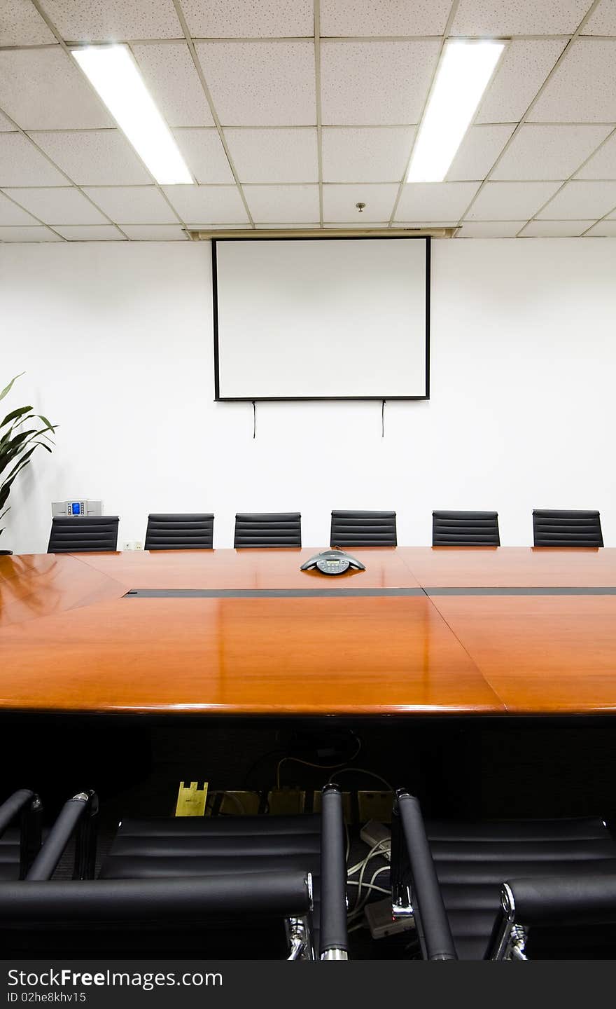
<svg viewBox="0 0 616 1009">
<path fill-rule="evenodd" d="M 504 42 L 487 40 L 446 43 L 407 183 L 443 182 L 504 47 Z"/>
</svg>

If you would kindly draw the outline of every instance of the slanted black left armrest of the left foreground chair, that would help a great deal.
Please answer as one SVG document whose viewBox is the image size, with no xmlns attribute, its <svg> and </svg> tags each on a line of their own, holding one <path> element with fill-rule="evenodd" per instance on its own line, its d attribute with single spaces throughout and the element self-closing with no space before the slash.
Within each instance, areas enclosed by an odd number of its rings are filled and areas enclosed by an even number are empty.
<svg viewBox="0 0 616 1009">
<path fill-rule="evenodd" d="M 92 877 L 96 847 L 94 822 L 97 813 L 98 798 L 94 792 L 80 792 L 65 802 L 44 845 L 26 874 L 26 880 L 51 879 L 69 842 L 76 832 L 74 879 Z"/>
</svg>

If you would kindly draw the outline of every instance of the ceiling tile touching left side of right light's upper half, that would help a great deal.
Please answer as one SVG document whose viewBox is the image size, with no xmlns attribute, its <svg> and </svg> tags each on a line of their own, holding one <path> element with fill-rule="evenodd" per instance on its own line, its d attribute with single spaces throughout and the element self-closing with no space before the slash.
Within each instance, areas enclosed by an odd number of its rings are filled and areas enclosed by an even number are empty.
<svg viewBox="0 0 616 1009">
<path fill-rule="evenodd" d="M 323 122 L 330 126 L 417 123 L 440 41 L 323 42 Z"/>
</svg>

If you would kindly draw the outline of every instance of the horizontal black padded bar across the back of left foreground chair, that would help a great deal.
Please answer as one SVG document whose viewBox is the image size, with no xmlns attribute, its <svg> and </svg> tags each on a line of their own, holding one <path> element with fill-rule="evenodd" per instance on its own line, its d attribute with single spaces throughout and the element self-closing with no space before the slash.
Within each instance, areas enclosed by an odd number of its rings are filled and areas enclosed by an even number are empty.
<svg viewBox="0 0 616 1009">
<path fill-rule="evenodd" d="M 141 880 L 0 883 L 0 924 L 179 923 L 249 912 L 291 917 L 312 907 L 305 872 Z"/>
</svg>

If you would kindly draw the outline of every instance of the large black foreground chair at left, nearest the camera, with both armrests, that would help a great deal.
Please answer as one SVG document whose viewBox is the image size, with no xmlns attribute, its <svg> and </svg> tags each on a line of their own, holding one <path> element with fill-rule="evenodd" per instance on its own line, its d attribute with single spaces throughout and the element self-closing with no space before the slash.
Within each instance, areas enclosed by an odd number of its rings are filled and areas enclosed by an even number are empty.
<svg viewBox="0 0 616 1009">
<path fill-rule="evenodd" d="M 94 810 L 94 812 L 93 812 Z M 121 930 L 121 956 L 135 944 L 152 950 L 162 933 L 163 951 L 191 942 L 211 945 L 200 933 L 226 936 L 233 959 L 255 959 L 255 942 L 274 921 L 288 960 L 347 960 L 345 829 L 342 793 L 327 786 L 322 813 L 303 816 L 179 817 L 123 820 L 111 852 L 93 880 L 92 795 L 67 803 L 27 886 L 0 883 L 0 927 L 29 932 L 49 948 L 73 930 L 70 948 L 109 949 Z M 86 828 L 84 829 L 84 824 Z M 89 882 L 49 880 L 76 830 L 79 872 Z M 74 878 L 84 878 L 74 875 Z M 284 925 L 284 931 L 282 929 Z"/>
</svg>

